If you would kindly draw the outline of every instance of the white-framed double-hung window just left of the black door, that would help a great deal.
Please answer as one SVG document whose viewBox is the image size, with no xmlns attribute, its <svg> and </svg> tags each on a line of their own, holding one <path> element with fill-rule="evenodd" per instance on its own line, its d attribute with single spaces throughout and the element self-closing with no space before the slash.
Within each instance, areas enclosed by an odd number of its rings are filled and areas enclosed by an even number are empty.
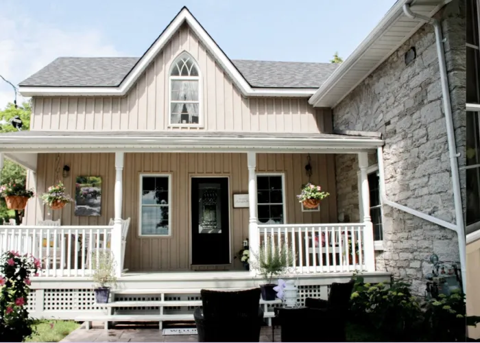
<svg viewBox="0 0 480 343">
<path fill-rule="evenodd" d="M 170 175 L 140 175 L 139 235 L 169 236 L 171 234 Z"/>
</svg>

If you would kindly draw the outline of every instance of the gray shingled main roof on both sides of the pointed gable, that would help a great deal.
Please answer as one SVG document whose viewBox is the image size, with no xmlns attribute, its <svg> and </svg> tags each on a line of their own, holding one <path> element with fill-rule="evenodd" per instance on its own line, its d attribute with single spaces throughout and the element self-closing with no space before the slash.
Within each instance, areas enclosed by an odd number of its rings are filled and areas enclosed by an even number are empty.
<svg viewBox="0 0 480 343">
<path fill-rule="evenodd" d="M 20 86 L 119 86 L 136 57 L 61 57 Z M 338 67 L 334 63 L 232 60 L 253 87 L 318 88 Z"/>
</svg>

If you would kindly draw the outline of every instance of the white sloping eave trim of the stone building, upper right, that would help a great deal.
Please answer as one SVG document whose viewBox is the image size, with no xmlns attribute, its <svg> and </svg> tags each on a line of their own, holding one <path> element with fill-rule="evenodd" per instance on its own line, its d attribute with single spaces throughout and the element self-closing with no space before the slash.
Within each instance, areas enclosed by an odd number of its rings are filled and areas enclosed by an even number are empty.
<svg viewBox="0 0 480 343">
<path fill-rule="evenodd" d="M 425 8 L 433 8 L 433 10 L 430 10 L 428 13 L 429 16 L 433 16 L 440 8 L 442 8 L 445 3 L 450 2 L 451 0 L 398 0 L 392 8 L 385 14 L 383 19 L 380 21 L 376 27 L 368 34 L 367 38 L 365 38 L 360 45 L 355 49 L 355 51 L 346 58 L 346 60 L 340 64 L 340 66 L 335 69 L 335 71 L 328 77 L 328 79 L 318 88 L 318 90 L 315 92 L 315 94 L 309 99 L 309 104 L 313 105 L 314 107 L 331 107 L 334 108 L 343 100 L 351 91 L 353 91 L 365 78 L 368 77 L 376 68 L 379 67 L 380 64 L 382 64 L 389 56 L 391 56 L 397 49 L 405 43 L 405 41 L 410 38 L 424 23 L 418 21 L 416 23 L 415 27 L 411 29 L 409 32 L 405 32 L 403 34 L 403 37 L 396 43 L 396 45 L 389 50 L 387 54 L 381 54 L 378 57 L 375 57 L 376 63 L 374 64 L 374 67 L 372 67 L 368 71 L 362 71 L 359 70 L 358 73 L 361 75 L 361 77 L 357 78 L 355 80 L 355 77 L 351 77 L 352 80 L 351 82 L 348 82 L 348 90 L 346 90 L 343 87 L 339 87 L 339 89 L 336 90 L 336 92 L 341 93 L 341 95 L 335 94 L 332 95 L 334 100 L 330 99 L 325 99 L 326 95 L 333 91 L 335 86 L 341 81 L 344 76 L 347 75 L 348 71 L 350 69 L 355 69 L 355 66 L 357 62 L 366 54 L 370 49 L 372 49 L 372 45 L 376 43 L 377 40 L 380 40 L 383 38 L 383 34 L 389 29 L 390 26 L 392 26 L 396 21 L 400 18 L 400 16 L 403 16 L 403 5 L 405 3 L 410 3 L 412 6 L 412 10 L 415 12 L 415 8 L 413 7 L 414 5 L 418 5 L 419 8 L 422 8 L 424 10 Z M 406 17 L 405 17 L 406 18 Z M 377 61 L 378 59 L 378 61 Z"/>
</svg>

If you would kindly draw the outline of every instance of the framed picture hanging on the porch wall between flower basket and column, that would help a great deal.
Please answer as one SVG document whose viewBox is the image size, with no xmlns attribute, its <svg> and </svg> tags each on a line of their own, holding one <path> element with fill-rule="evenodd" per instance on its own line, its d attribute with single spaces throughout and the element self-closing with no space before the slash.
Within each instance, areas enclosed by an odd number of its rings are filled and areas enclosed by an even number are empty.
<svg viewBox="0 0 480 343">
<path fill-rule="evenodd" d="M 101 214 L 101 176 L 77 176 L 75 215 L 98 217 Z"/>
</svg>

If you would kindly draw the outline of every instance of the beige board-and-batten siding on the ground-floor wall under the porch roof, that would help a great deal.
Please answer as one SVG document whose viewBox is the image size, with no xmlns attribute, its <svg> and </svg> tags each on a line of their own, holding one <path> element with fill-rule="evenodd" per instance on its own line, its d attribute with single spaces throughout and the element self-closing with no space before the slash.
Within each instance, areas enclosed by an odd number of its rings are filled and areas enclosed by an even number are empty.
<svg viewBox="0 0 480 343">
<path fill-rule="evenodd" d="M 38 155 L 37 192 L 43 193 L 53 185 L 56 154 Z M 259 173 L 285 173 L 285 216 L 288 224 L 337 222 L 335 192 L 335 156 L 311 154 L 313 175 L 331 193 L 322 202 L 320 212 L 302 212 L 296 199 L 300 187 L 308 181 L 304 166 L 307 154 L 258 154 Z M 61 218 L 62 225 L 105 225 L 114 215 L 115 154 L 60 154 L 60 178 L 63 165 L 71 167 L 64 178 L 69 193 L 74 196 L 76 176 L 101 176 L 101 216 L 77 217 L 73 204 L 52 211 L 38 198 L 29 200 L 27 224 L 36 220 Z M 171 237 L 139 237 L 139 174 L 171 174 Z M 130 270 L 188 270 L 190 268 L 190 179 L 192 176 L 228 176 L 230 180 L 230 235 L 232 262 L 235 252 L 248 237 L 248 209 L 233 208 L 233 194 L 248 193 L 246 154 L 239 153 L 129 153 L 125 154 L 123 169 L 123 217 L 132 218 L 125 252 L 125 268 Z"/>
</svg>

